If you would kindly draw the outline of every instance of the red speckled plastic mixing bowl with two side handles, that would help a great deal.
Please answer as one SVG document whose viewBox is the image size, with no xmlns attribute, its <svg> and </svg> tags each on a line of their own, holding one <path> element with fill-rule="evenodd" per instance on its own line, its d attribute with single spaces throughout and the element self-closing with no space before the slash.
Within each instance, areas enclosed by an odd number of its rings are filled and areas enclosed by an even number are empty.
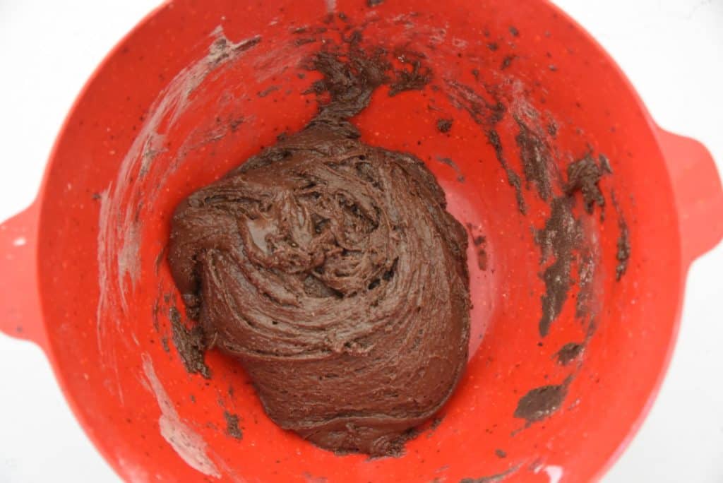
<svg viewBox="0 0 723 483">
<path fill-rule="evenodd" d="M 366 142 L 427 162 L 470 231 L 466 375 L 399 458 L 336 456 L 283 431 L 226 356 L 207 354 L 208 380 L 189 374 L 169 320 L 182 309 L 164 255 L 174 207 L 314 116 L 304 91 L 318 76 L 299 64 L 323 28 L 344 25 L 432 67 L 435 87 L 381 89 L 354 122 Z M 490 91 L 505 101 L 505 166 L 474 110 Z M 538 242 L 550 203 L 524 182 L 521 120 L 560 174 L 551 197 L 586 155 L 612 167 L 604 207 L 590 214 L 571 198 L 586 245 L 545 334 Z M 46 351 L 82 427 L 129 481 L 583 482 L 640 426 L 688 267 L 722 236 L 709 153 L 657 127 L 609 56 L 547 1 L 176 0 L 103 61 L 38 199 L 0 226 L 0 272 L 13 274 L 0 279 L 0 328 Z M 559 401 L 521 417 L 546 391 Z M 240 438 L 227 431 L 236 416 Z"/>
</svg>

